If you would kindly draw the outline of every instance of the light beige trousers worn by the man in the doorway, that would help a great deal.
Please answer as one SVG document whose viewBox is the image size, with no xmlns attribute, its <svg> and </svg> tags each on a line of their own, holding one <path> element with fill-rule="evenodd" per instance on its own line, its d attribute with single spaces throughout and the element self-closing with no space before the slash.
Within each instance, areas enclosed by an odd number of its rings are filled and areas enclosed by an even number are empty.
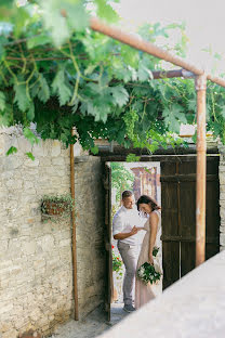
<svg viewBox="0 0 225 338">
<path fill-rule="evenodd" d="M 125 265 L 125 275 L 123 280 L 123 302 L 125 306 L 132 304 L 132 295 L 134 289 L 136 262 L 138 258 L 137 247 L 118 240 L 118 249 Z"/>
</svg>

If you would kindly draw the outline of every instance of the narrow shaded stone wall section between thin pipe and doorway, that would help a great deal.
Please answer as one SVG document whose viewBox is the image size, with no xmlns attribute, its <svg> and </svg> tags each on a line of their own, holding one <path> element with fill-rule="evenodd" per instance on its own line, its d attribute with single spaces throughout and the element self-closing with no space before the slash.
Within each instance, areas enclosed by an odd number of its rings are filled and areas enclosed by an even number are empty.
<svg viewBox="0 0 225 338">
<path fill-rule="evenodd" d="M 79 316 L 104 301 L 105 245 L 103 164 L 84 157 L 75 165 Z"/>
</svg>

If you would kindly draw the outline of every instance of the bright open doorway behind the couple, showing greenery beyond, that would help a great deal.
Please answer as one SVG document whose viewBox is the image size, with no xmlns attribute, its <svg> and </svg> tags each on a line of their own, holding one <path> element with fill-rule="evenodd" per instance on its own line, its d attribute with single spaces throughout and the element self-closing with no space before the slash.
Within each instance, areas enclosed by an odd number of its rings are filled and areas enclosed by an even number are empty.
<svg viewBox="0 0 225 338">
<path fill-rule="evenodd" d="M 161 183 L 160 183 L 160 162 L 110 162 L 111 173 L 111 221 L 115 213 L 121 207 L 121 194 L 129 190 L 134 194 L 135 202 L 141 195 L 149 195 L 161 205 Z M 136 208 L 136 206 L 134 206 Z M 146 219 L 141 219 L 144 224 Z M 112 226 L 112 222 L 110 222 Z M 137 226 L 141 224 L 136 224 Z M 138 232 L 138 242 L 142 243 L 145 232 Z M 141 245 L 136 246 L 136 260 L 138 259 Z M 124 265 L 122 263 L 117 240 L 111 236 L 112 250 L 112 295 L 111 295 L 111 313 L 110 321 L 115 323 L 121 320 L 127 313 L 123 308 L 122 285 L 124 278 Z M 161 258 L 161 248 L 158 253 Z M 134 299 L 134 290 L 133 290 Z"/>
</svg>

